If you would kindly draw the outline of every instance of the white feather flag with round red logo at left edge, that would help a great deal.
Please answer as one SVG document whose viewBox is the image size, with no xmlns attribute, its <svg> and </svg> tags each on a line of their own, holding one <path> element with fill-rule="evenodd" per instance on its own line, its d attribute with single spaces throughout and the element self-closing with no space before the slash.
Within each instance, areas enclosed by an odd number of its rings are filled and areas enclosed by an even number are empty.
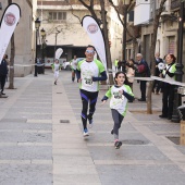
<svg viewBox="0 0 185 185">
<path fill-rule="evenodd" d="M 7 47 L 20 21 L 21 9 L 16 3 L 11 3 L 4 10 L 0 22 L 0 63 L 5 53 Z"/>
</svg>

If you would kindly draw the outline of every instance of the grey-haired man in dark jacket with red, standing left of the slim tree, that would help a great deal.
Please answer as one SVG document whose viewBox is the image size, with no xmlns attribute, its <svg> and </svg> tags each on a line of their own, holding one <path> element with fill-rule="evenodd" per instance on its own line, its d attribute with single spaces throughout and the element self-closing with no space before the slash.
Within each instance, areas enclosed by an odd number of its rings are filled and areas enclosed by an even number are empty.
<svg viewBox="0 0 185 185">
<path fill-rule="evenodd" d="M 143 59 L 141 53 L 137 53 L 136 59 L 137 59 L 137 73 L 138 73 L 137 76 L 149 77 L 150 70 L 149 70 L 147 61 Z M 138 101 L 146 101 L 146 89 L 147 89 L 147 81 L 140 81 L 141 97 L 140 99 L 138 99 Z"/>
</svg>

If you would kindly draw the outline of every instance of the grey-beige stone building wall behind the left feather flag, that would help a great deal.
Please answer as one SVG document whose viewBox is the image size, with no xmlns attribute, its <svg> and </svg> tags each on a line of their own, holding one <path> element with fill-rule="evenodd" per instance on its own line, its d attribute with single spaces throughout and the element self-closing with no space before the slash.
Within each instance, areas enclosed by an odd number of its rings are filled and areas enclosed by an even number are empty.
<svg viewBox="0 0 185 185">
<path fill-rule="evenodd" d="M 14 0 L 21 8 L 21 18 L 14 32 L 15 42 L 15 59 L 14 72 L 15 76 L 25 76 L 32 73 L 33 51 L 32 51 L 32 35 L 33 35 L 33 0 Z M 2 10 L 0 15 L 8 7 L 7 0 L 1 1 Z M 10 45 L 7 49 L 10 57 Z"/>
</svg>

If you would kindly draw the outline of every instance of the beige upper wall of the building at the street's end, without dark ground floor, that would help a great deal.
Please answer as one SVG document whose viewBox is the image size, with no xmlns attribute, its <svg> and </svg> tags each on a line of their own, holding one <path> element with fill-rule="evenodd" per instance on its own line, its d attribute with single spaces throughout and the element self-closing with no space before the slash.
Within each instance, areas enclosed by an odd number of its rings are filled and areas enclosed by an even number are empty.
<svg viewBox="0 0 185 185">
<path fill-rule="evenodd" d="M 89 39 L 88 35 L 84 30 L 81 25 L 81 20 L 85 15 L 89 15 L 89 11 L 82 5 L 79 2 L 75 1 L 76 3 L 71 5 L 45 5 L 46 0 L 39 0 L 38 5 L 38 13 L 40 20 L 42 20 L 40 29 L 44 27 L 47 32 L 47 45 L 54 46 L 55 45 L 55 33 L 57 29 L 60 33 L 57 36 L 57 45 L 71 45 L 72 47 L 85 47 L 87 45 L 92 45 L 91 40 Z M 72 1 L 70 1 L 72 2 Z M 95 5 L 97 11 L 100 10 L 98 5 Z M 73 11 L 72 11 L 73 10 Z M 122 26 L 116 16 L 116 13 L 113 9 L 107 7 L 108 10 L 108 26 L 109 26 L 109 40 L 111 41 L 111 57 L 112 61 L 115 59 L 121 59 L 122 57 Z M 66 21 L 58 23 L 48 21 L 49 12 L 52 11 L 62 11 L 66 12 Z M 99 18 L 100 18 L 100 13 Z M 78 18 L 79 17 L 79 18 Z"/>
</svg>

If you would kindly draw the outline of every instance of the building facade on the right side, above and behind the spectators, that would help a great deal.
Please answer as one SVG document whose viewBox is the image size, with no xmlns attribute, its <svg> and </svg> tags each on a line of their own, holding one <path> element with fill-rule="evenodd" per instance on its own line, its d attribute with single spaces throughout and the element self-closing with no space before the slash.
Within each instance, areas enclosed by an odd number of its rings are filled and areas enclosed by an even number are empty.
<svg viewBox="0 0 185 185">
<path fill-rule="evenodd" d="M 144 54 L 144 58 L 148 61 L 148 63 L 150 63 L 150 46 L 153 28 L 152 21 L 156 11 L 158 11 L 159 9 L 160 2 L 160 0 L 136 0 L 136 5 L 134 10 L 134 25 L 141 26 L 141 53 Z M 146 11 L 143 11 L 144 9 Z M 178 15 L 180 1 L 166 0 L 160 17 L 156 45 L 156 52 L 160 52 L 161 58 L 163 58 L 168 53 L 173 53 L 175 57 L 177 55 Z M 183 48 L 183 59 L 185 59 L 185 32 Z M 183 81 L 185 82 L 185 78 Z"/>
</svg>

